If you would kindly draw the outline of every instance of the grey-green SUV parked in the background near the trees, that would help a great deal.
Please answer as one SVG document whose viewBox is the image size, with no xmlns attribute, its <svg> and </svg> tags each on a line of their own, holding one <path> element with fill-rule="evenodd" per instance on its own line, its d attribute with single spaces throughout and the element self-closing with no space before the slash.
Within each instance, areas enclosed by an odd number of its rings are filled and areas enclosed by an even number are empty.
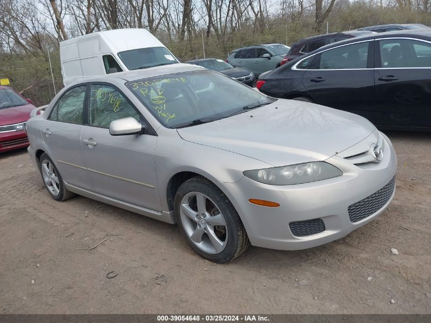
<svg viewBox="0 0 431 323">
<path fill-rule="evenodd" d="M 227 57 L 227 63 L 234 67 L 245 67 L 256 77 L 263 72 L 280 66 L 290 47 L 283 44 L 262 44 L 234 49 Z"/>
</svg>

